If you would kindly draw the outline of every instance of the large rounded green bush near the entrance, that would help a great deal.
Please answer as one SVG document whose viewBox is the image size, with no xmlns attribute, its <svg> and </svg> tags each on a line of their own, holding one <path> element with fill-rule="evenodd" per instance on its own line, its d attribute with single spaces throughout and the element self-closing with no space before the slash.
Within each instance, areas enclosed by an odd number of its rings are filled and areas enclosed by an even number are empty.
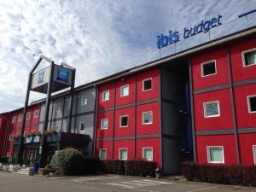
<svg viewBox="0 0 256 192">
<path fill-rule="evenodd" d="M 75 148 L 65 148 L 53 156 L 49 166 L 61 175 L 83 174 L 84 155 Z"/>
</svg>

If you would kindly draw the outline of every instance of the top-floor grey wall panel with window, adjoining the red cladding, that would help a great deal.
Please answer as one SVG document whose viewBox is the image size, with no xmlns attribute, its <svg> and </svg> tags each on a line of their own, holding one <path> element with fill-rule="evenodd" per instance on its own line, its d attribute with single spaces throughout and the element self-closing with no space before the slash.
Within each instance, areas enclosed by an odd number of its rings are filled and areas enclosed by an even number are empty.
<svg viewBox="0 0 256 192">
<path fill-rule="evenodd" d="M 95 110 L 95 100 L 96 100 L 96 88 L 90 88 L 88 90 L 82 90 L 78 93 L 78 107 L 77 107 L 77 113 L 85 113 L 88 111 L 94 111 Z M 82 106 L 82 98 L 87 98 L 87 104 Z"/>
</svg>

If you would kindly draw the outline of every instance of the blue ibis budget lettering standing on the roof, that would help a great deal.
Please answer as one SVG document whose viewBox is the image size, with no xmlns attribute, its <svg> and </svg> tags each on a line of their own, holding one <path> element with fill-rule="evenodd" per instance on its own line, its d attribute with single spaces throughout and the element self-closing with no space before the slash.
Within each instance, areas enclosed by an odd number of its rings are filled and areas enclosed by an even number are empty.
<svg viewBox="0 0 256 192">
<path fill-rule="evenodd" d="M 202 20 L 199 25 L 191 28 L 185 27 L 183 31 L 183 38 L 189 38 L 200 32 L 208 32 L 211 28 L 221 25 L 220 18 L 222 18 L 222 15 L 218 15 L 218 17 L 214 17 L 212 20 Z M 177 31 L 172 32 L 170 30 L 168 35 L 160 34 L 157 36 L 157 48 L 161 49 L 166 47 L 168 44 L 174 44 L 179 40 L 179 38 L 179 32 Z"/>
</svg>

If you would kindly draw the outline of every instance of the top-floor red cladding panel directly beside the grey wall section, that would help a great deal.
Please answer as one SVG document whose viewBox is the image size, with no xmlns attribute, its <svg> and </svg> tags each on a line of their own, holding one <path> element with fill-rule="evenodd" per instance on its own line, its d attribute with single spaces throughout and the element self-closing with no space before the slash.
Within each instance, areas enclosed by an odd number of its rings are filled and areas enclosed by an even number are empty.
<svg viewBox="0 0 256 192">
<path fill-rule="evenodd" d="M 103 101 L 102 95 L 103 91 L 109 90 L 109 100 Z M 110 82 L 108 84 L 102 84 L 98 89 L 98 108 L 113 108 L 113 94 L 114 94 L 114 84 Z"/>
</svg>

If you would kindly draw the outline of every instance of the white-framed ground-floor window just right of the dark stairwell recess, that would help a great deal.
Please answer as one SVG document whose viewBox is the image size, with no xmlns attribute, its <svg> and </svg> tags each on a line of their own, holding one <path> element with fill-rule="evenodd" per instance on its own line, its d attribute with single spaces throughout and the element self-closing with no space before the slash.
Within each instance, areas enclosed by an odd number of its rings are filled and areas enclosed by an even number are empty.
<svg viewBox="0 0 256 192">
<path fill-rule="evenodd" d="M 207 147 L 208 163 L 224 163 L 223 146 Z"/>
</svg>

